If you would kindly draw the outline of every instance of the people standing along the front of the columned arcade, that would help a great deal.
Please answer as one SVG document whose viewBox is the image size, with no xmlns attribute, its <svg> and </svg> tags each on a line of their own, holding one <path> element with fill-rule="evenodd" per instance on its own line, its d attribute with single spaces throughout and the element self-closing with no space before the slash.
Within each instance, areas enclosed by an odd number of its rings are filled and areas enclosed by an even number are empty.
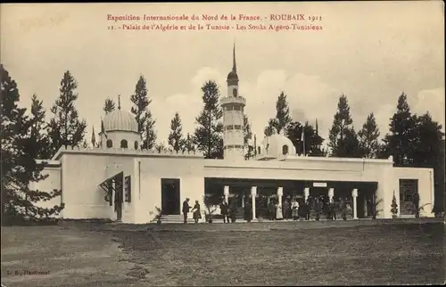
<svg viewBox="0 0 446 287">
<path fill-rule="evenodd" d="M 193 213 L 194 222 L 198 223 L 202 218 L 201 207 L 198 201 L 195 201 L 193 207 L 189 206 L 189 199 L 183 202 L 183 216 L 184 223 L 187 223 L 187 214 Z M 282 205 L 278 204 L 276 200 L 270 200 L 268 202 L 268 219 L 269 220 L 281 220 L 281 219 L 293 219 L 298 220 L 301 216 L 305 220 L 310 220 L 311 210 L 314 210 L 315 219 L 320 220 L 320 217 L 326 212 L 328 219 L 336 220 L 336 211 L 341 210 L 343 220 L 347 220 L 347 213 L 349 212 L 349 205 L 341 198 L 339 202 L 335 202 L 333 198 L 326 201 L 324 196 L 308 197 L 307 201 L 299 202 L 297 198 L 290 202 L 290 199 L 285 199 Z M 221 216 L 224 223 L 235 223 L 238 205 L 237 201 L 233 200 L 230 204 L 226 199 L 223 199 L 219 205 Z M 251 201 L 244 202 L 244 220 L 247 222 L 252 221 L 252 203 Z"/>
</svg>

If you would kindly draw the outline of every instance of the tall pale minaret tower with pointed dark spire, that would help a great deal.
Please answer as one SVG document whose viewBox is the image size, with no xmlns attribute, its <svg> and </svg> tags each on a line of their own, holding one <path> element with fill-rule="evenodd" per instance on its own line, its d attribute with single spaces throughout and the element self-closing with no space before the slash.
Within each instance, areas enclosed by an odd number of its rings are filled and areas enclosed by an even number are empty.
<svg viewBox="0 0 446 287">
<path fill-rule="evenodd" d="M 223 148 L 225 160 L 244 160 L 244 106 L 246 100 L 238 93 L 235 44 L 232 70 L 227 75 L 227 96 L 221 99 L 223 109 Z"/>
</svg>

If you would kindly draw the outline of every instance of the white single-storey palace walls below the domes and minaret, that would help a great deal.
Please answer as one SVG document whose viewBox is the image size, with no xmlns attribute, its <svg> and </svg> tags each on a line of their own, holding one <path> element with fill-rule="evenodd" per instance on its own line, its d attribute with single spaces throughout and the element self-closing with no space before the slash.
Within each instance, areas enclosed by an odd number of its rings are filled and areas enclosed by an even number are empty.
<svg viewBox="0 0 446 287">
<path fill-rule="evenodd" d="M 39 190 L 62 189 L 62 196 L 44 202 L 45 207 L 63 202 L 61 217 L 70 219 L 117 219 L 114 205 L 104 200 L 99 184 L 123 172 L 131 178 L 131 201 L 123 202 L 121 221 L 143 224 L 153 220 L 155 207 L 161 207 L 161 179 L 176 178 L 180 183 L 178 204 L 190 198 L 202 203 L 205 178 L 270 179 L 310 182 L 376 182 L 376 199 L 382 199 L 377 217 L 390 218 L 392 196 L 399 201 L 399 179 L 416 179 L 420 205 L 434 205 L 432 168 L 393 168 L 392 159 L 338 159 L 282 156 L 274 160 L 204 160 L 201 154 L 132 151 L 125 149 L 62 148 L 45 168 L 49 176 L 35 184 Z M 257 192 L 257 186 L 252 190 Z M 281 187 L 277 185 L 277 190 Z M 227 193 L 231 186 L 227 186 Z M 329 193 L 330 188 L 326 188 Z M 301 191 L 303 193 L 303 191 Z M 336 191 L 334 191 L 336 192 Z M 332 191 L 333 193 L 333 191 Z M 353 200 L 360 189 L 351 188 Z M 224 191 L 221 191 L 224 194 Z M 226 194 L 225 194 L 226 195 Z M 191 204 L 192 204 L 191 202 Z M 202 204 L 203 206 L 203 204 Z M 179 210 L 178 210 L 179 213 Z M 431 209 L 422 217 L 434 217 Z"/>
</svg>

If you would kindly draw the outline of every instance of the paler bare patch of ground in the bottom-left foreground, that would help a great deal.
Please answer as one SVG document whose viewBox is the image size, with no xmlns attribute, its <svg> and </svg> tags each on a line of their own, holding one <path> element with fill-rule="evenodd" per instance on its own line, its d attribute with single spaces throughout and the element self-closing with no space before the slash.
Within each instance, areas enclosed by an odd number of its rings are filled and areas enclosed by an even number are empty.
<svg viewBox="0 0 446 287">
<path fill-rule="evenodd" d="M 131 286 L 128 263 L 110 234 L 77 226 L 2 227 L 5 286 Z M 130 275 L 129 275 L 130 274 Z"/>
</svg>

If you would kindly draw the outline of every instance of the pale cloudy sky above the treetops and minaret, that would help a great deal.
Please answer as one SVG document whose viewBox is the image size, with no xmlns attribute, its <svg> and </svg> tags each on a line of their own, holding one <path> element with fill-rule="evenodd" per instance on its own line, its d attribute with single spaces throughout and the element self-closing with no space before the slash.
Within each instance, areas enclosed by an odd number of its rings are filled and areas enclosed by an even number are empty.
<svg viewBox="0 0 446 287">
<path fill-rule="evenodd" d="M 188 21 L 111 21 L 116 16 L 187 15 Z M 204 21 L 202 15 L 217 15 Z M 260 21 L 230 20 L 260 16 Z M 271 20 L 270 15 L 305 20 Z M 197 15 L 200 19 L 190 18 Z M 221 20 L 222 15 L 229 16 Z M 207 80 L 227 94 L 235 42 L 239 94 L 253 133 L 263 137 L 284 91 L 292 117 L 318 119 L 328 137 L 337 102 L 347 96 L 353 124 L 370 112 L 384 136 L 402 92 L 415 113 L 429 111 L 444 131 L 444 8 L 427 2 L 310 2 L 220 4 L 2 4 L 0 59 L 16 80 L 21 106 L 32 94 L 44 101 L 47 119 L 59 96 L 64 71 L 78 81 L 76 107 L 100 131 L 103 102 L 110 97 L 130 111 L 130 95 L 143 75 L 158 143 L 167 143 L 170 120 L 179 112 L 184 133 L 193 133 Z M 275 17 L 275 16 L 274 16 Z M 300 17 L 297 17 L 300 19 Z M 310 21 L 311 19 L 315 21 Z M 178 30 L 128 30 L 122 25 L 170 24 Z M 322 29 L 193 30 L 189 25 L 313 25 Z M 179 26 L 185 25 L 186 29 Z M 113 26 L 114 29 L 110 29 Z M 97 138 L 97 137 L 96 137 Z"/>
</svg>

